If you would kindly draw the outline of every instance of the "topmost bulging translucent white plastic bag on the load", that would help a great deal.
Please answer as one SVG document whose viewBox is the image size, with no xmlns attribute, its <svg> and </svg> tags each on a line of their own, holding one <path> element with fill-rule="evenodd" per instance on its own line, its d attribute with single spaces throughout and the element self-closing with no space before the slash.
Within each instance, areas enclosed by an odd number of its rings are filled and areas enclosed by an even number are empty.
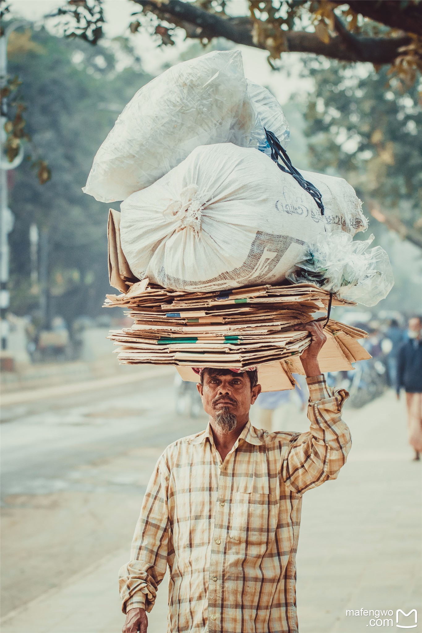
<svg viewBox="0 0 422 633">
<path fill-rule="evenodd" d="M 100 202 L 124 200 L 199 145 L 231 142 L 268 152 L 268 126 L 285 147 L 289 128 L 282 108 L 271 92 L 246 81 L 240 51 L 184 61 L 127 104 L 97 151 L 83 191 Z"/>
</svg>

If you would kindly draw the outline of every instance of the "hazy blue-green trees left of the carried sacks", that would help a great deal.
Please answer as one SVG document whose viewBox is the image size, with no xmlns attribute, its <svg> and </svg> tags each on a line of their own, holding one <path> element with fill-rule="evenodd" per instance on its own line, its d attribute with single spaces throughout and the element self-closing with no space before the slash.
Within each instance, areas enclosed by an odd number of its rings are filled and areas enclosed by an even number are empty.
<svg viewBox="0 0 422 633">
<path fill-rule="evenodd" d="M 9 72 L 22 80 L 28 132 L 43 156 L 9 172 L 16 218 L 9 235 L 11 310 L 18 315 L 38 310 L 39 294 L 28 292 L 29 227 L 35 222 L 40 236 L 48 236 L 49 317 L 58 314 L 71 323 L 78 315 L 96 316 L 109 291 L 108 206 L 85 196 L 81 188 L 118 113 L 151 77 L 134 54 L 130 67 L 116 70 L 118 60 L 127 58 L 127 41 L 93 47 L 54 37 L 44 28 L 32 40 L 39 54 L 21 47 L 9 59 Z M 53 165 L 51 180 L 47 162 Z M 34 179 L 34 168 L 44 185 Z M 41 246 L 39 266 L 40 251 Z"/>
</svg>

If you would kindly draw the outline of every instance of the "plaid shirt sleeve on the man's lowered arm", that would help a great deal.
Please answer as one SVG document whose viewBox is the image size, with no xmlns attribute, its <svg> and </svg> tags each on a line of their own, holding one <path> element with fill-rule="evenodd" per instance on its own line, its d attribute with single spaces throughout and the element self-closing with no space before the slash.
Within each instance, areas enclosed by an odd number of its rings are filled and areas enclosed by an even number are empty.
<svg viewBox="0 0 422 633">
<path fill-rule="evenodd" d="M 162 458 L 149 480 L 132 541 L 131 560 L 119 572 L 122 611 L 151 611 L 167 568 L 168 480 Z"/>
</svg>

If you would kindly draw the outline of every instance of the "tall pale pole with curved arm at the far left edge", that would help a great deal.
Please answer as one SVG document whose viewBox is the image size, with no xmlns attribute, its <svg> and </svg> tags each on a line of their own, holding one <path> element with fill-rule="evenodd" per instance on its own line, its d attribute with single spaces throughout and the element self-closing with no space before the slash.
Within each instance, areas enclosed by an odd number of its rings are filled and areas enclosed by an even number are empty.
<svg viewBox="0 0 422 633">
<path fill-rule="evenodd" d="M 22 27 L 27 22 L 19 20 L 9 24 L 3 35 L 0 36 L 0 86 L 3 88 L 8 82 L 8 40 L 15 28 Z M 9 323 L 6 319 L 10 296 L 9 282 L 9 233 L 13 229 L 14 216 L 8 206 L 8 179 L 7 172 L 15 169 L 23 160 L 23 146 L 21 144 L 18 155 L 9 162 L 3 147 L 7 139 L 4 124 L 8 120 L 7 97 L 3 97 L 0 103 L 0 339 L 1 349 L 8 348 Z"/>
</svg>

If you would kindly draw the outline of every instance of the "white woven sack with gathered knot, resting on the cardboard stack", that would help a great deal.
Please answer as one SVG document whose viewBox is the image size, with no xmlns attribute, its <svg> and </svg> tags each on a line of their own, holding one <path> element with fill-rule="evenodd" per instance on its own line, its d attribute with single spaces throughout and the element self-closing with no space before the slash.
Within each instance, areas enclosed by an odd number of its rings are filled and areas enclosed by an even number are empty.
<svg viewBox="0 0 422 633">
<path fill-rule="evenodd" d="M 332 199 L 334 181 L 344 194 L 344 181 L 332 178 Z M 352 235 L 359 222 L 364 227 L 354 197 L 342 207 L 347 219 L 341 222 Z M 165 287 L 209 291 L 276 283 L 302 258 L 306 242 L 331 230 L 329 206 L 326 216 L 328 225 L 313 197 L 258 150 L 200 146 L 121 203 L 121 247 L 136 277 Z"/>
</svg>

